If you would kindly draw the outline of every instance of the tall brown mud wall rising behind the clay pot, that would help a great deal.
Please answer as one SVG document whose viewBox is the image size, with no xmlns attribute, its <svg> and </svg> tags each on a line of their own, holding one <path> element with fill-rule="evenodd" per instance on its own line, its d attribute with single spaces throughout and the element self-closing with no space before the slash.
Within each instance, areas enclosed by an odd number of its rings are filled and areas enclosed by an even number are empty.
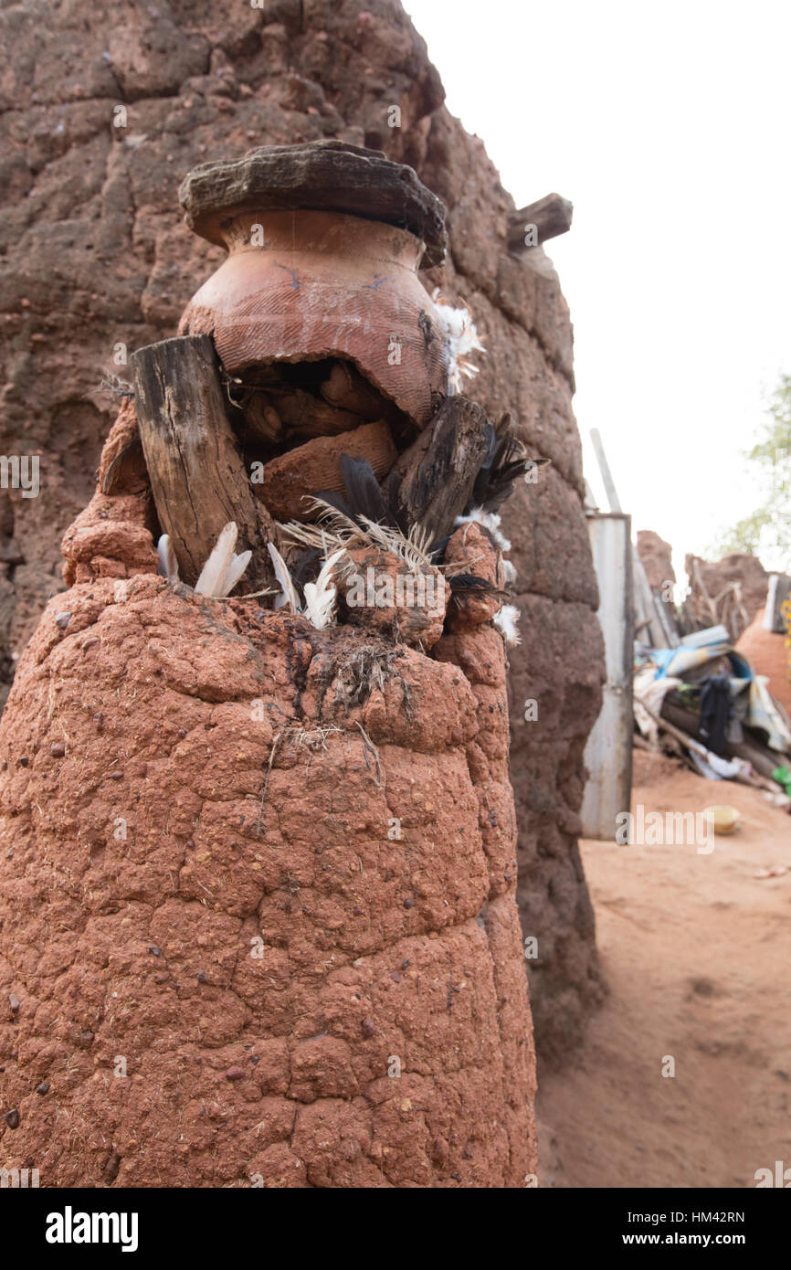
<svg viewBox="0 0 791 1270">
<path fill-rule="evenodd" d="M 268 0 L 264 11 L 159 0 L 156 15 L 142 3 L 104 13 L 88 0 L 29 0 L 0 24 L 0 452 L 38 453 L 42 481 L 38 499 L 4 491 L 0 502 L 0 673 L 8 682 L 11 653 L 62 587 L 60 538 L 91 498 L 117 411 L 99 381 L 128 378 L 116 345 L 171 335 L 222 259 L 182 224 L 185 173 L 315 137 L 378 146 L 414 166 L 449 208 L 449 259 L 427 282 L 471 305 L 489 349 L 471 391 L 493 413 L 512 409 L 533 452 L 552 460 L 517 491 L 507 521 L 523 634 L 510 654 L 521 906 L 540 937 L 529 965 L 538 1044 L 562 1057 L 599 991 L 575 834 L 602 652 L 571 326 L 551 264 L 541 248 L 508 255 L 513 199 L 482 142 L 443 108 L 396 0 Z M 400 128 L 387 127 L 391 104 Z M 114 127 L 121 105 L 126 127 Z M 533 723 L 523 721 L 528 681 Z"/>
</svg>

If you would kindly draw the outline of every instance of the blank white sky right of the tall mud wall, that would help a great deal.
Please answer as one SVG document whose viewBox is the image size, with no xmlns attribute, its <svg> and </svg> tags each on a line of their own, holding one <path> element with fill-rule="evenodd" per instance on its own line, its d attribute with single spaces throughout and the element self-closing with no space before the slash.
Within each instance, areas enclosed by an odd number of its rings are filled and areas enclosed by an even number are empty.
<svg viewBox="0 0 791 1270">
<path fill-rule="evenodd" d="M 517 206 L 574 203 L 547 253 L 585 475 L 606 507 L 598 428 L 634 530 L 678 573 L 753 511 L 741 455 L 791 372 L 791 4 L 404 3 Z"/>
</svg>

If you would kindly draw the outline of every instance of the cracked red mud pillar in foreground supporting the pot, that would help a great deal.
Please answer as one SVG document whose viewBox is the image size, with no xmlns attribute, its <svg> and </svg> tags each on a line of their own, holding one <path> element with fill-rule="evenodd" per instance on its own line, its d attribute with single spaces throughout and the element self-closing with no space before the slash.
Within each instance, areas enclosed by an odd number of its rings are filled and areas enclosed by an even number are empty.
<svg viewBox="0 0 791 1270">
<path fill-rule="evenodd" d="M 50 602 L 0 724 L 4 1163 L 44 1186 L 524 1185 L 488 615 L 455 613 L 433 659 L 201 599 L 116 542 Z"/>
</svg>

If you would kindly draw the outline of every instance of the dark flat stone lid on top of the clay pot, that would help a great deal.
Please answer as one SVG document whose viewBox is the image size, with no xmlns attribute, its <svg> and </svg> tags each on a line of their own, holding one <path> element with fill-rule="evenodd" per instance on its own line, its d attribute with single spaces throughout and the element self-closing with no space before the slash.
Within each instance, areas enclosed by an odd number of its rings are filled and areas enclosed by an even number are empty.
<svg viewBox="0 0 791 1270">
<path fill-rule="evenodd" d="M 408 230 L 425 244 L 424 268 L 442 264 L 446 207 L 406 164 L 345 141 L 259 146 L 241 159 L 199 164 L 179 187 L 187 225 L 225 246 L 223 222 L 248 211 L 345 212 Z"/>
</svg>

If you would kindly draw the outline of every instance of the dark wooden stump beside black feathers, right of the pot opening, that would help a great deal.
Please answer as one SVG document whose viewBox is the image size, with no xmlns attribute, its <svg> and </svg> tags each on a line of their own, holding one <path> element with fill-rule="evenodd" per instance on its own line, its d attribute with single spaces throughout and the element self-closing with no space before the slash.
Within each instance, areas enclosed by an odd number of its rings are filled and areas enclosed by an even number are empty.
<svg viewBox="0 0 791 1270">
<path fill-rule="evenodd" d="M 486 411 L 466 396 L 446 398 L 395 467 L 395 511 L 401 525 L 420 525 L 432 540 L 453 531 L 488 451 Z"/>
</svg>

